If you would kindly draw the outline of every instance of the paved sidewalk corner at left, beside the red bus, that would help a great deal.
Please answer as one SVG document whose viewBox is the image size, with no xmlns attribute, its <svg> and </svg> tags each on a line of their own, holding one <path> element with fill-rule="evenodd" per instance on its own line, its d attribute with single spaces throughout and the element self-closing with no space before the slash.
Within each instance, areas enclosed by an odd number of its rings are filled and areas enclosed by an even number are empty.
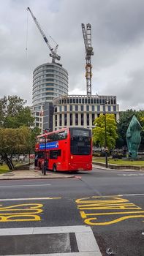
<svg viewBox="0 0 144 256">
<path fill-rule="evenodd" d="M 75 178 L 74 175 L 69 173 L 53 173 L 47 170 L 46 175 L 42 174 L 42 170 L 34 170 L 34 165 L 30 167 L 30 170 L 13 170 L 9 173 L 1 173 L 0 180 L 11 179 L 36 179 L 36 178 Z"/>
</svg>

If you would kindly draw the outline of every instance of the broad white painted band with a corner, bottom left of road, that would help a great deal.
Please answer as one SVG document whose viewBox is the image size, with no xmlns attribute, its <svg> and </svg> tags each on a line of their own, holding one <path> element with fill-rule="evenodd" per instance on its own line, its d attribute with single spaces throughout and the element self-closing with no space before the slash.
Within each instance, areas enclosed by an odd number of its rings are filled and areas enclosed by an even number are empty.
<svg viewBox="0 0 144 256">
<path fill-rule="evenodd" d="M 102 256 L 99 246 L 96 243 L 94 233 L 91 227 L 81 226 L 64 226 L 64 227 L 23 227 L 23 228 L 1 228 L 0 236 L 20 236 L 20 235 L 34 235 L 34 234 L 52 234 L 52 233 L 75 233 L 77 247 L 79 252 L 69 253 L 52 253 L 39 254 L 51 256 Z M 8 255 L 7 255 L 8 256 Z M 9 255 L 10 256 L 10 255 Z M 18 256 L 18 255 L 15 255 Z M 20 256 L 20 255 L 19 255 Z M 22 255 L 21 255 L 22 256 Z M 25 255 L 29 256 L 29 255 Z"/>
</svg>

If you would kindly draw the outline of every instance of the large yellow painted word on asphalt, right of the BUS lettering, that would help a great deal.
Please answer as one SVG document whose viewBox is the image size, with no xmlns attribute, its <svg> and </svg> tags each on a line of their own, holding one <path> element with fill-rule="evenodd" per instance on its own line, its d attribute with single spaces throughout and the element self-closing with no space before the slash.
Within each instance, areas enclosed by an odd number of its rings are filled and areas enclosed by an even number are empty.
<svg viewBox="0 0 144 256">
<path fill-rule="evenodd" d="M 75 200 L 75 202 L 77 203 L 77 209 L 81 210 L 80 216 L 87 225 L 111 225 L 124 221 L 125 219 L 144 218 L 144 211 L 142 208 L 136 206 L 134 203 L 129 203 L 129 200 L 121 198 L 120 195 L 84 197 Z M 99 210 L 101 210 L 101 212 L 99 212 Z M 123 214 L 124 216 L 117 219 L 111 219 L 111 217 L 114 217 L 117 214 Z M 105 216 L 105 222 L 99 220 L 102 216 Z M 110 220 L 106 220 L 106 218 L 110 218 Z"/>
</svg>

